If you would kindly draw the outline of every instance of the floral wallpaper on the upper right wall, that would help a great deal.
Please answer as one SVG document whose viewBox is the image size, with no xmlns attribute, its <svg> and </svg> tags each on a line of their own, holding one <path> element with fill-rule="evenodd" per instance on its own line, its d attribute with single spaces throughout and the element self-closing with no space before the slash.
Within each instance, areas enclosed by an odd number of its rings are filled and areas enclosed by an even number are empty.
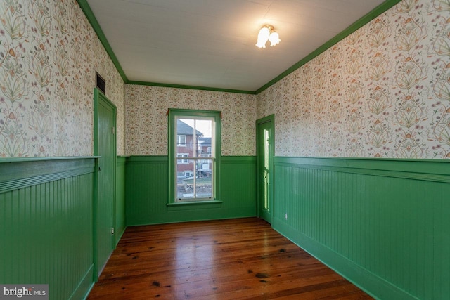
<svg viewBox="0 0 450 300">
<path fill-rule="evenodd" d="M 450 157 L 450 3 L 404 0 L 258 95 L 276 155 Z"/>
</svg>

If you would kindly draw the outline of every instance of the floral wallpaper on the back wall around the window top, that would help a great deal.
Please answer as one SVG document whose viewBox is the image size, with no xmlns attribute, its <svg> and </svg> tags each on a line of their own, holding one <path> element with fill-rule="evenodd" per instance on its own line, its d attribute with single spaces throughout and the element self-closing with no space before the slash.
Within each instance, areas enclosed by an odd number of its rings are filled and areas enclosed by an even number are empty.
<svg viewBox="0 0 450 300">
<path fill-rule="evenodd" d="M 125 85 L 127 155 L 167 155 L 167 109 L 219 110 L 221 154 L 255 155 L 256 95 Z"/>
</svg>

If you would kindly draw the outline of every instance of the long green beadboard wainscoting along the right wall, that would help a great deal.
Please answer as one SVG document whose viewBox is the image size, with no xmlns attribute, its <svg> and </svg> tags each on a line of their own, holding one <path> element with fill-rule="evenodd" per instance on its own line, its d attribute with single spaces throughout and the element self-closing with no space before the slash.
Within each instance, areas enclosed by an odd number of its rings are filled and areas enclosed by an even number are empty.
<svg viewBox="0 0 450 300">
<path fill-rule="evenodd" d="M 272 226 L 377 299 L 450 299 L 449 163 L 276 157 Z"/>
</svg>

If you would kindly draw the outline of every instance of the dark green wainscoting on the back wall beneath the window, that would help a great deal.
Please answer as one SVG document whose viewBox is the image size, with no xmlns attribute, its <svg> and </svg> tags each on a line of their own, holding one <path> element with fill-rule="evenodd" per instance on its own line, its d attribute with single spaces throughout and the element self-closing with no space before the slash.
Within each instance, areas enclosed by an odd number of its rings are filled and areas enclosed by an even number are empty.
<svg viewBox="0 0 450 300">
<path fill-rule="evenodd" d="M 127 159 L 127 226 L 256 216 L 256 157 L 221 157 L 217 202 L 172 204 L 167 156 Z"/>
</svg>

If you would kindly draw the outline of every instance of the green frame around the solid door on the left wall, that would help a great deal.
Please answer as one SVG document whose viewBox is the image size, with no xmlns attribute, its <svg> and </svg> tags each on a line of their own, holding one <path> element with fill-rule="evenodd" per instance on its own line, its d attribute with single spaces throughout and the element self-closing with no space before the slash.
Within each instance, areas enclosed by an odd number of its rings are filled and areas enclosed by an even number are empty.
<svg viewBox="0 0 450 300">
<path fill-rule="evenodd" d="M 102 266 L 98 266 L 98 245 L 97 245 L 97 217 L 98 217 L 98 193 L 101 193 L 101 191 L 98 190 L 98 159 L 99 156 L 99 148 L 98 148 L 98 141 L 99 141 L 99 133 L 100 130 L 98 128 L 98 106 L 102 103 L 102 105 L 108 106 L 113 110 L 113 124 L 114 124 L 114 135 L 113 135 L 113 185 L 116 186 L 116 165 L 117 165 L 117 107 L 112 103 L 108 98 L 106 98 L 105 94 L 103 94 L 102 91 L 100 91 L 98 88 L 94 88 L 94 157 L 96 157 L 96 169 L 94 172 L 94 202 L 93 202 L 93 259 L 94 259 L 94 282 L 98 281 L 98 268 L 101 268 Z M 113 190 L 113 226 L 115 228 L 115 192 L 116 189 Z M 112 249 L 115 248 L 115 239 L 112 239 Z"/>
</svg>

